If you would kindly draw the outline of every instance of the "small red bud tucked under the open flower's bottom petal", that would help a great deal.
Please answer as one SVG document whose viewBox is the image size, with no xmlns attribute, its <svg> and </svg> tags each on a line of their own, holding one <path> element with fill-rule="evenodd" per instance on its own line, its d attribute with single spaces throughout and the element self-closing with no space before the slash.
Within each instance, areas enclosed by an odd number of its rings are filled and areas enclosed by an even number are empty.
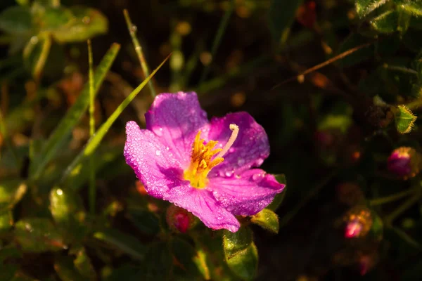
<svg viewBox="0 0 422 281">
<path fill-rule="evenodd" d="M 170 229 L 176 233 L 186 233 L 196 222 L 193 214 L 174 205 L 167 208 L 166 221 Z"/>
</svg>

